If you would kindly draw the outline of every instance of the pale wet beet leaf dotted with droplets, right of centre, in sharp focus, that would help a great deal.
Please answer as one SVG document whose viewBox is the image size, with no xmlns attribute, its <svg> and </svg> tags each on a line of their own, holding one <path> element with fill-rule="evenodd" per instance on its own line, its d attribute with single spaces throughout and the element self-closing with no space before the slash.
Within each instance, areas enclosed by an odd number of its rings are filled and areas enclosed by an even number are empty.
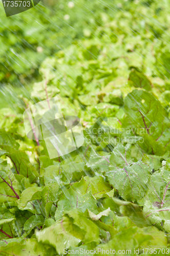
<svg viewBox="0 0 170 256">
<path fill-rule="evenodd" d="M 145 194 L 147 189 L 145 184 L 152 172 L 152 165 L 150 162 L 143 163 L 141 160 L 132 164 L 128 163 L 130 156 L 130 152 L 126 155 L 127 149 L 129 150 L 128 144 L 127 148 L 123 149 L 122 147 L 124 146 L 118 144 L 114 148 L 113 155 L 110 157 L 113 166 L 110 167 L 110 172 L 107 172 L 106 175 L 110 184 L 118 190 L 122 198 L 135 202 L 143 198 Z M 116 155 L 118 155 L 117 159 L 115 159 Z"/>
</svg>

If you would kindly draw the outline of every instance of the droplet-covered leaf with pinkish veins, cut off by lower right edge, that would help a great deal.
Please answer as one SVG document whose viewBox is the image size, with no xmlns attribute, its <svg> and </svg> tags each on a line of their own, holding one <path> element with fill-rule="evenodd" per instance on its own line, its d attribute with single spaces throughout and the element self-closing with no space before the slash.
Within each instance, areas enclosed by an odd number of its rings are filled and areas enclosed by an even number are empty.
<svg viewBox="0 0 170 256">
<path fill-rule="evenodd" d="M 152 224 L 167 232 L 170 230 L 169 223 L 169 184 L 170 174 L 167 170 L 155 172 L 148 182 L 147 193 L 139 201 L 143 206 L 143 214 Z"/>
</svg>

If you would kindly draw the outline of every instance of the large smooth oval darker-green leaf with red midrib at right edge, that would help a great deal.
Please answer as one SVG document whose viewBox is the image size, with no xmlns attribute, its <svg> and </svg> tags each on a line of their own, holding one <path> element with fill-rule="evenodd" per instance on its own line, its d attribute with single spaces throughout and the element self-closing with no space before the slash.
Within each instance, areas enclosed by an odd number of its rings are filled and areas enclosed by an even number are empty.
<svg viewBox="0 0 170 256">
<path fill-rule="evenodd" d="M 129 93 L 125 98 L 125 112 L 133 130 L 141 137 L 139 145 L 145 152 L 162 155 L 169 150 L 167 112 L 152 94 L 143 90 Z"/>
</svg>

